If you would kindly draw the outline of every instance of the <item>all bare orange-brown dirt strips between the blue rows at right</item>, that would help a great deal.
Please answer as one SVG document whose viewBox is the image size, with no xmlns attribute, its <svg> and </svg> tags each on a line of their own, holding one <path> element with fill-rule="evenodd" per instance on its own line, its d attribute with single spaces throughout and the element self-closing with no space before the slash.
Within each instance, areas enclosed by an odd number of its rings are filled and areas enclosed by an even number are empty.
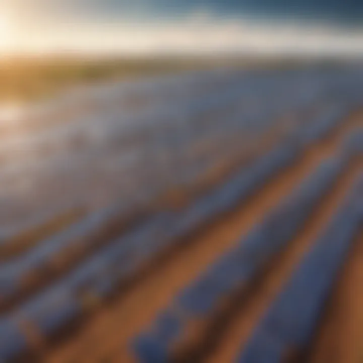
<svg viewBox="0 0 363 363">
<path fill-rule="evenodd" d="M 130 342 L 152 323 L 178 291 L 228 252 L 322 161 L 333 157 L 346 136 L 361 126 L 361 113 L 350 117 L 328 139 L 312 145 L 291 167 L 269 180 L 246 202 L 199 230 L 168 259 L 153 266 L 143 278 L 99 307 L 68 339 L 45 347 L 42 360 L 54 363 L 134 361 Z M 334 215 L 362 166 L 361 161 L 356 160 L 340 175 L 301 233 L 240 302 L 233 318 L 215 341 L 214 349 L 206 354 L 206 361 L 233 361 L 270 302 Z M 359 287 L 363 278 L 362 259 L 363 240 L 360 237 L 339 276 L 324 322 L 312 344 L 311 358 L 315 363 L 358 362 L 363 357 L 363 311 L 360 308 L 363 290 Z"/>
</svg>

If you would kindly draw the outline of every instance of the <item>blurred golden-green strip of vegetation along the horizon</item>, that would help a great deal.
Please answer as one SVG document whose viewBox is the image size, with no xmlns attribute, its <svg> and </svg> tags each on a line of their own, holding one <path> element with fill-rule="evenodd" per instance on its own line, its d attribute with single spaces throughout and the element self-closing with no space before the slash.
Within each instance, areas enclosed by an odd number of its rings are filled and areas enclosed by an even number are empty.
<svg viewBox="0 0 363 363">
<path fill-rule="evenodd" d="M 220 66 L 291 67 L 301 59 L 265 57 L 12 57 L 0 60 L 0 101 L 29 101 L 52 97 L 68 87 L 112 79 L 184 72 Z M 331 63 L 331 62 L 330 62 Z M 324 62 L 327 65 L 327 62 Z"/>
</svg>

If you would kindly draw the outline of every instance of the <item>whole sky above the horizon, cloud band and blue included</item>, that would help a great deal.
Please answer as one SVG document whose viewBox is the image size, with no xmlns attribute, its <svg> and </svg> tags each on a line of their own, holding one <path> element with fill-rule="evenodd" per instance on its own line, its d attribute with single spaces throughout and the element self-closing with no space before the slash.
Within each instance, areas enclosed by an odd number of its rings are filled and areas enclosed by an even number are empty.
<svg viewBox="0 0 363 363">
<path fill-rule="evenodd" d="M 0 0 L 0 52 L 363 56 L 359 0 Z"/>
</svg>

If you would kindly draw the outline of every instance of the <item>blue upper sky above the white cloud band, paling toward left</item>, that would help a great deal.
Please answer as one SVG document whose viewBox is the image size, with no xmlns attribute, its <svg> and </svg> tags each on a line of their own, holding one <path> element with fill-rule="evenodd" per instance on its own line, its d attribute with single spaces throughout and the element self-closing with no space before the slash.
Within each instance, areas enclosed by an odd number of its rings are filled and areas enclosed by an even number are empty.
<svg viewBox="0 0 363 363">
<path fill-rule="evenodd" d="M 363 23 L 361 0 L 3 0 L 21 12 L 92 21 L 185 17 L 203 9 L 217 17 L 278 17 L 335 24 Z M 1 3 L 1 0 L 0 0 Z"/>
</svg>

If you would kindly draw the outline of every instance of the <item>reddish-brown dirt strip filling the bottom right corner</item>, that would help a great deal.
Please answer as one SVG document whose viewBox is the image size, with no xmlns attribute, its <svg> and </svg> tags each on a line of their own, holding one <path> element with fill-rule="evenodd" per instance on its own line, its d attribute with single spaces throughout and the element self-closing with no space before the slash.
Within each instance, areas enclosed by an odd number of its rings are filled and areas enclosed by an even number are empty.
<svg viewBox="0 0 363 363">
<path fill-rule="evenodd" d="M 363 361 L 363 230 L 357 237 L 329 299 L 309 361 Z"/>
</svg>

